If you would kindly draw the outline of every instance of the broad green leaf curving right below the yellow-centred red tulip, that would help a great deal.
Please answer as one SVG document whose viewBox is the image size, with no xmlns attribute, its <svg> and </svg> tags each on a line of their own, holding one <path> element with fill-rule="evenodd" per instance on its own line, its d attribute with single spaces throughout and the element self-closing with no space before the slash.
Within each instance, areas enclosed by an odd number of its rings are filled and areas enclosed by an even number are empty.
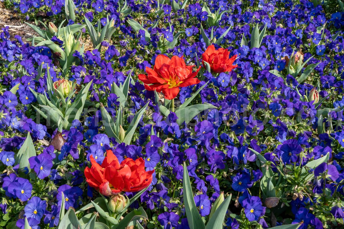
<svg viewBox="0 0 344 229">
<path fill-rule="evenodd" d="M 196 115 L 198 115 L 202 111 L 205 111 L 208 109 L 214 109 L 214 108 L 217 108 L 217 107 L 209 103 L 203 103 L 203 104 L 190 105 L 182 109 L 178 109 L 177 111 L 175 111 L 175 114 L 178 117 L 177 123 L 178 125 L 182 125 L 183 122 L 188 124 Z"/>
</svg>

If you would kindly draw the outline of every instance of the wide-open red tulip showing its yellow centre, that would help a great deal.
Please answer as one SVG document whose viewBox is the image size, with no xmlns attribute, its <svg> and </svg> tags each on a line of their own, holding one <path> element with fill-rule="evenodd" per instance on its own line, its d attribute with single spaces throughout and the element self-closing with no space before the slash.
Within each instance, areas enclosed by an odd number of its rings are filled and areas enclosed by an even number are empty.
<svg viewBox="0 0 344 229">
<path fill-rule="evenodd" d="M 154 70 L 146 67 L 148 75 L 139 74 L 139 80 L 144 83 L 148 91 L 163 92 L 166 99 L 174 99 L 179 88 L 200 82 L 196 77 L 200 68 L 192 72 L 193 66 L 186 66 L 183 58 L 158 55 L 155 59 Z"/>
</svg>

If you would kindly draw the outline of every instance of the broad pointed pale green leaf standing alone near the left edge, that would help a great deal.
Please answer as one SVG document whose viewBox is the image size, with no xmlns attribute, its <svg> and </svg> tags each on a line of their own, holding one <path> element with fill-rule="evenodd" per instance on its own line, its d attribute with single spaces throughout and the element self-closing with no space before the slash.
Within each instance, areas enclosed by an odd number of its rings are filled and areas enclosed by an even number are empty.
<svg viewBox="0 0 344 229">
<path fill-rule="evenodd" d="M 36 149 L 35 149 L 35 146 L 33 145 L 30 132 L 28 132 L 22 147 L 20 147 L 16 155 L 15 162 L 16 164 L 19 164 L 20 169 L 28 167 L 29 172 L 30 172 L 29 158 L 34 157 L 34 156 L 36 156 Z"/>
</svg>

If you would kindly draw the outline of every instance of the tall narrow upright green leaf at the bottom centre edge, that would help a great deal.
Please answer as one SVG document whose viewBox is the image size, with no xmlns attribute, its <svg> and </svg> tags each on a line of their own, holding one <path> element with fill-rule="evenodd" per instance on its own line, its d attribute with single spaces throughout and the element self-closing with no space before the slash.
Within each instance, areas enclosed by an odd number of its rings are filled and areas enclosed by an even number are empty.
<svg viewBox="0 0 344 229">
<path fill-rule="evenodd" d="M 184 171 L 183 171 L 183 198 L 185 205 L 185 213 L 187 222 L 190 229 L 205 229 L 205 224 L 198 213 L 194 196 L 191 188 L 189 172 L 187 171 L 186 164 L 184 162 Z"/>
</svg>

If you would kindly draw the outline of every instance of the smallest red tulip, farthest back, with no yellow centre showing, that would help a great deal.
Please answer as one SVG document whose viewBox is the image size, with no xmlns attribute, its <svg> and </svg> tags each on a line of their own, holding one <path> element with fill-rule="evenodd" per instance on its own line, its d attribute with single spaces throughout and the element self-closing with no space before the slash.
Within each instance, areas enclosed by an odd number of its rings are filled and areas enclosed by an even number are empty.
<svg viewBox="0 0 344 229">
<path fill-rule="evenodd" d="M 212 72 L 221 73 L 232 71 L 234 68 L 238 67 L 237 65 L 233 65 L 236 57 L 237 55 L 234 55 L 229 58 L 228 49 L 215 49 L 214 45 L 210 45 L 202 54 L 203 67 L 206 68 L 205 61 L 210 65 Z"/>
</svg>

